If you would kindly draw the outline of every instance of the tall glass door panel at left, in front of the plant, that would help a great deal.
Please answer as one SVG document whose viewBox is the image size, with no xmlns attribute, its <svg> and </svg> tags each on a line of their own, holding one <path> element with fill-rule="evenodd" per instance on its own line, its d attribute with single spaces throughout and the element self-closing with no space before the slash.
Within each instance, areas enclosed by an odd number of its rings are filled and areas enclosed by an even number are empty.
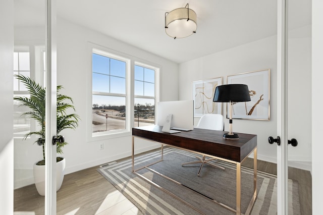
<svg viewBox="0 0 323 215">
<path fill-rule="evenodd" d="M 39 84 L 39 93 L 44 92 L 44 56 L 45 56 L 45 2 L 14 1 L 14 211 L 28 211 L 44 214 L 45 211 L 45 166 L 35 164 L 43 160 L 41 135 L 28 135 L 30 132 L 42 131 L 41 124 L 30 114 L 34 109 L 40 110 L 38 120 L 45 115 L 45 106 L 34 107 L 19 97 L 32 101 L 43 101 L 41 96 L 32 96 L 28 91 L 28 81 Z M 20 76 L 20 78 L 18 78 Z M 24 79 L 24 77 L 26 79 Z M 39 143 L 39 144 L 38 144 Z M 35 168 L 35 169 L 34 169 Z M 34 173 L 41 177 L 34 176 Z"/>
</svg>

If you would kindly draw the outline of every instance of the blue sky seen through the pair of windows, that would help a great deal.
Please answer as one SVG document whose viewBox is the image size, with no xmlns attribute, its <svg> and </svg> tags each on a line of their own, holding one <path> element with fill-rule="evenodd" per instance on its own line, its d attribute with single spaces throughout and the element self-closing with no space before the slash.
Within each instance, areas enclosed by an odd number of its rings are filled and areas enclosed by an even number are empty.
<svg viewBox="0 0 323 215">
<path fill-rule="evenodd" d="M 154 70 L 135 65 L 135 95 L 154 96 Z M 95 92 L 126 94 L 126 62 L 92 54 L 92 89 Z M 137 103 L 154 104 L 154 99 L 135 98 Z M 93 95 L 92 104 L 126 105 L 121 96 Z"/>
</svg>

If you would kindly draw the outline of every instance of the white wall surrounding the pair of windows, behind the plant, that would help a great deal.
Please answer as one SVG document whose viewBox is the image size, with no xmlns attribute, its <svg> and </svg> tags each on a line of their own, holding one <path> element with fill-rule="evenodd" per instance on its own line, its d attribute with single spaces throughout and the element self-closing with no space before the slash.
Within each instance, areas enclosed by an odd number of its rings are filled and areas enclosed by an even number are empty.
<svg viewBox="0 0 323 215">
<path fill-rule="evenodd" d="M 62 132 L 69 143 L 63 149 L 67 158 L 65 174 L 131 155 L 131 132 L 126 136 L 101 140 L 91 140 L 87 135 L 88 129 L 91 129 L 91 114 L 88 113 L 92 109 L 89 44 L 160 66 L 160 100 L 178 100 L 178 64 L 62 19 L 58 19 L 57 27 L 57 84 L 63 85 L 62 92 L 73 98 L 81 118 L 76 130 Z M 20 28 L 17 32 L 20 34 L 15 37 L 16 44 L 20 45 L 24 42 L 39 43 L 42 38 L 37 37 L 41 29 Z M 32 164 L 41 158 L 40 147 L 33 144 L 35 139 L 15 139 L 15 188 L 33 183 Z M 100 143 L 104 144 L 103 150 L 99 150 Z M 151 148 L 151 144 L 144 144 L 143 141 L 136 143 L 139 143 L 136 144 L 137 152 Z M 33 159 L 28 159 L 30 157 Z"/>
</svg>

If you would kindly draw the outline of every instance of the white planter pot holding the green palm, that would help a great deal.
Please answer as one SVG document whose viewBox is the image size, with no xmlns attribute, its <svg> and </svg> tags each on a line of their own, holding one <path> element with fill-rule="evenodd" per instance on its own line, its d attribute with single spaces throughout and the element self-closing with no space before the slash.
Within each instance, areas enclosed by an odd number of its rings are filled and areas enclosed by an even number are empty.
<svg viewBox="0 0 323 215">
<path fill-rule="evenodd" d="M 37 162 L 36 162 L 37 163 Z M 34 180 L 39 195 L 45 195 L 45 165 L 39 166 L 34 164 Z M 56 163 L 56 191 L 58 191 L 63 183 L 65 170 L 65 158 Z"/>
</svg>

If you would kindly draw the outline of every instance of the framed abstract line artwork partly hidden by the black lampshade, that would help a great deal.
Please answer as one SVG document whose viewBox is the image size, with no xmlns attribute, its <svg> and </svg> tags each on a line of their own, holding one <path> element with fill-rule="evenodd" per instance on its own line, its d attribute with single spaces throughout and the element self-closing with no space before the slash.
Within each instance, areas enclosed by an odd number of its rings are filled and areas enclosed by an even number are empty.
<svg viewBox="0 0 323 215">
<path fill-rule="evenodd" d="M 222 104 L 213 102 L 216 87 L 222 85 L 222 77 L 192 82 L 194 117 L 204 114 L 222 114 Z"/>
</svg>

